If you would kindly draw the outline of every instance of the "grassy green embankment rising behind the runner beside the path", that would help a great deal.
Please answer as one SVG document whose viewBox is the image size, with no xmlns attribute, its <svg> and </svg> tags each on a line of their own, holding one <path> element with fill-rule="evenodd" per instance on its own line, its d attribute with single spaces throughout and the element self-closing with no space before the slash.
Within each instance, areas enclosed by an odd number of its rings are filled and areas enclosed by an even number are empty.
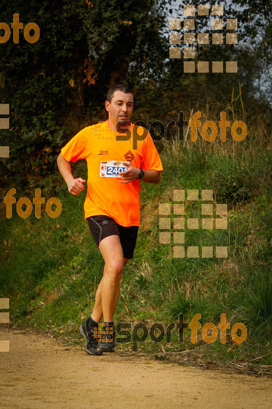
<svg viewBox="0 0 272 409">
<path fill-rule="evenodd" d="M 206 112 L 202 124 L 211 118 Z M 248 125 L 242 142 L 233 142 L 230 131 L 224 143 L 219 134 L 213 142 L 200 134 L 195 143 L 189 138 L 190 133 L 185 142 L 156 143 L 164 172 L 159 185 L 141 183 L 141 228 L 135 256 L 123 272 L 115 323 L 129 322 L 133 328 L 142 322 L 150 328 L 157 322 L 166 329 L 178 322 L 179 313 L 187 323 L 200 313 L 202 326 L 208 322 L 217 326 L 225 312 L 231 327 L 236 322 L 246 326 L 248 337 L 242 344 L 232 341 L 230 330 L 226 344 L 220 343 L 220 331 L 214 343 L 204 343 L 201 330 L 192 344 L 189 329 L 184 330 L 181 344 L 175 329 L 170 344 L 166 337 L 154 343 L 148 336 L 138 344 L 138 352 L 148 350 L 159 359 L 206 367 L 216 363 L 268 373 L 272 365 L 271 140 L 265 139 L 260 122 Z M 85 161 L 73 166 L 73 174 L 86 179 Z M 84 220 L 85 194 L 70 195 L 57 171 L 43 185 L 31 186 L 28 197 L 32 199 L 37 187 L 42 187 L 45 200 L 51 196 L 61 200 L 62 213 L 52 219 L 43 209 L 37 219 L 33 210 L 22 219 L 13 205 L 12 218 L 6 219 L 2 205 L 0 297 L 10 298 L 11 326 L 36 327 L 67 344 L 80 344 L 78 327 L 90 315 L 104 262 Z M 198 230 L 188 230 L 185 223 L 185 248 L 199 246 L 199 258 L 174 258 L 173 242 L 159 244 L 159 203 L 174 203 L 174 189 L 185 189 L 185 197 L 188 189 L 213 189 L 214 205 L 228 204 L 227 230 L 216 230 L 215 225 L 203 230 L 201 223 Z M 18 200 L 27 194 L 15 196 Z M 201 219 L 201 193 L 199 201 L 186 199 L 185 209 L 185 220 Z M 218 217 L 215 206 L 213 217 Z M 202 258 L 203 245 L 227 245 L 228 257 L 216 258 L 214 252 L 213 258 Z M 118 344 L 117 350 L 132 351 L 132 340 Z M 187 352 L 170 354 L 175 351 Z"/>
</svg>

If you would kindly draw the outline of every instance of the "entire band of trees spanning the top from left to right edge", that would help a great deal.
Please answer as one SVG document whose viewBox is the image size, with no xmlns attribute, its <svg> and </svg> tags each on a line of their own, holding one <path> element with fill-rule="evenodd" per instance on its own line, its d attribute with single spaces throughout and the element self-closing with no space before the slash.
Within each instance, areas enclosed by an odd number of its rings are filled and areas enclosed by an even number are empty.
<svg viewBox="0 0 272 409">
<path fill-rule="evenodd" d="M 214 4 L 197 4 L 207 3 Z M 248 105 L 256 106 L 257 85 L 263 90 L 261 78 L 265 73 L 269 79 L 271 67 L 271 5 L 261 0 L 217 3 L 224 4 L 224 20 L 238 18 L 239 45 L 196 43 L 196 55 L 209 61 L 237 59 L 237 74 L 183 74 L 183 59 L 169 59 L 171 1 L 3 0 L 0 20 L 10 28 L 14 13 L 23 27 L 33 21 L 40 28 L 35 43 L 24 39 L 22 29 L 19 43 L 13 42 L 13 33 L 0 43 L 0 103 L 10 104 L 10 129 L 0 134 L 0 145 L 10 146 L 10 157 L 0 161 L 6 179 L 16 176 L 19 184 L 52 171 L 60 148 L 77 131 L 106 119 L 103 102 L 116 83 L 134 89 L 136 107 L 137 102 L 154 112 L 160 107 L 163 115 L 174 98 L 189 105 L 223 98 L 230 103 L 239 82 L 242 94 L 251 94 Z M 181 5 L 176 16 L 183 18 Z M 207 25 L 205 16 L 195 15 L 196 32 Z"/>
</svg>

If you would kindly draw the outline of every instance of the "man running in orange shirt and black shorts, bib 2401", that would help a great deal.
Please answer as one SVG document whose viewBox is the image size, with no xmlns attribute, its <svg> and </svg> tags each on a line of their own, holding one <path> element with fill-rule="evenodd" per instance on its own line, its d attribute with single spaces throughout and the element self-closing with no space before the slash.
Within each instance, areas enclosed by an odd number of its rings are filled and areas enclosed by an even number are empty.
<svg viewBox="0 0 272 409">
<path fill-rule="evenodd" d="M 105 106 L 109 112 L 108 121 L 82 129 L 61 149 L 57 158 L 59 171 L 72 195 L 83 191 L 86 180 L 73 178 L 70 161 L 76 162 L 83 158 L 87 161 L 85 219 L 105 260 L 93 311 L 79 329 L 85 339 L 85 351 L 90 355 L 114 352 L 113 314 L 119 298 L 119 282 L 123 268 L 133 258 L 140 225 L 140 179 L 157 184 L 163 170 L 149 133 L 145 139 L 137 142 L 137 149 L 133 149 L 132 137 L 128 141 L 116 141 L 116 135 L 121 134 L 116 131 L 119 121 L 127 121 L 123 124 L 131 135 L 136 126 L 129 122 L 133 110 L 131 89 L 126 85 L 111 87 Z M 138 134 L 142 133 L 143 128 L 139 127 Z M 105 164 L 107 161 L 113 161 L 111 167 Z M 121 177 L 117 177 L 120 170 L 118 166 L 124 169 L 119 173 Z M 98 329 L 102 316 L 102 337 L 101 342 L 97 342 L 97 335 L 94 336 L 97 332 L 94 331 Z"/>
</svg>

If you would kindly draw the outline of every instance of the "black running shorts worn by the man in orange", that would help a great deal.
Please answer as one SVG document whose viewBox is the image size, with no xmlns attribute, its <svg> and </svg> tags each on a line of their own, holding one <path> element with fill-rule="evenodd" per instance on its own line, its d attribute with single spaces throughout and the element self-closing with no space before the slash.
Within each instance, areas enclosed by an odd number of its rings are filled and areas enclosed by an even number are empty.
<svg viewBox="0 0 272 409">
<path fill-rule="evenodd" d="M 120 243 L 123 249 L 123 257 L 126 259 L 132 259 L 134 248 L 136 246 L 138 226 L 121 226 L 109 216 L 104 214 L 97 216 L 90 216 L 87 218 L 89 229 L 94 238 L 94 241 L 99 246 L 102 239 L 113 234 L 117 234 L 120 239 Z"/>
</svg>

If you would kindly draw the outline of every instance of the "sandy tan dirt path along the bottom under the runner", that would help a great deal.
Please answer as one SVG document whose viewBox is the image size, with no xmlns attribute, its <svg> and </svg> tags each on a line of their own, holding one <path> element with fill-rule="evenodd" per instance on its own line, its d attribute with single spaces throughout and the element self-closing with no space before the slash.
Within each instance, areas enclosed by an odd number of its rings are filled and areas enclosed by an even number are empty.
<svg viewBox="0 0 272 409">
<path fill-rule="evenodd" d="M 272 381 L 165 365 L 117 354 L 89 356 L 44 335 L 0 328 L 5 409 L 271 408 Z"/>
</svg>

